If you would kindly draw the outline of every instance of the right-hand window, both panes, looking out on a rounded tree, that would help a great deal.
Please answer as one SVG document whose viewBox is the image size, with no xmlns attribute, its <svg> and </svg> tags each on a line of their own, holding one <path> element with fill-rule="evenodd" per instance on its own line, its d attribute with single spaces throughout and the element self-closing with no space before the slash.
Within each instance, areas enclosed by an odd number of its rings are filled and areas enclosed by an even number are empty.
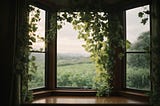
<svg viewBox="0 0 160 106">
<path fill-rule="evenodd" d="M 150 90 L 150 22 L 143 25 L 139 12 L 149 6 L 126 11 L 126 88 Z"/>
</svg>

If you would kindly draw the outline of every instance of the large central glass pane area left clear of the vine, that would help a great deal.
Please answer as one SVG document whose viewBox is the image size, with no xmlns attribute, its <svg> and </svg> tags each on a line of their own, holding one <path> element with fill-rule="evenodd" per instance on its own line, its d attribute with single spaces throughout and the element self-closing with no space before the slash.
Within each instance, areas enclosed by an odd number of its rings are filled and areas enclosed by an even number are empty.
<svg viewBox="0 0 160 106">
<path fill-rule="evenodd" d="M 57 33 L 57 87 L 92 88 L 95 66 L 70 23 Z"/>
</svg>

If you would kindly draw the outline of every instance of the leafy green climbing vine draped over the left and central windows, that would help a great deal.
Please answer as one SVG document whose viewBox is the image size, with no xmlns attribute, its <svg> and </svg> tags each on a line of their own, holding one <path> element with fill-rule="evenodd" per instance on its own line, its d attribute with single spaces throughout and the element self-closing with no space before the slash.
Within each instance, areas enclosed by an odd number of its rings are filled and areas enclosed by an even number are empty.
<svg viewBox="0 0 160 106">
<path fill-rule="evenodd" d="M 31 19 L 29 13 L 33 12 Z M 16 70 L 22 76 L 22 102 L 32 100 L 32 94 L 28 90 L 29 71 L 36 71 L 35 57 L 30 57 L 32 44 L 36 42 L 35 34 L 40 12 L 32 6 L 24 12 L 24 23 L 21 33 L 17 36 L 16 49 Z M 56 36 L 56 30 L 63 27 L 64 21 L 72 23 L 75 30 L 79 31 L 78 38 L 86 43 L 83 45 L 91 55 L 90 58 L 96 65 L 96 78 L 94 88 L 97 89 L 97 96 L 109 95 L 112 90 L 113 68 L 115 67 L 115 49 L 124 46 L 119 30 L 122 30 L 119 23 L 108 22 L 108 13 L 97 11 L 86 12 L 58 12 L 50 17 L 50 29 L 45 41 L 49 42 Z M 110 20 L 111 21 L 111 20 Z M 115 21 L 115 20 L 113 20 Z M 118 20 L 117 20 L 118 21 Z M 112 29 L 113 26 L 115 29 Z M 42 38 L 43 39 L 43 38 Z M 31 70 L 30 70 L 31 69 Z"/>
</svg>

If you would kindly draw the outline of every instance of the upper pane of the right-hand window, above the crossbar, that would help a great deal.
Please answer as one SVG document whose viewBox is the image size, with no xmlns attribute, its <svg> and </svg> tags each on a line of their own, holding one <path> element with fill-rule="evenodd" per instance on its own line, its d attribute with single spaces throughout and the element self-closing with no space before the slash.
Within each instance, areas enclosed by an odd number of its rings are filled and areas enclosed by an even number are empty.
<svg viewBox="0 0 160 106">
<path fill-rule="evenodd" d="M 149 6 L 138 7 L 126 11 L 126 45 L 127 51 L 149 51 L 150 48 L 150 22 L 149 15 L 144 14 L 148 21 L 145 25 L 141 23 L 142 19 L 138 16 L 139 12 L 149 10 Z M 142 13 L 143 14 L 143 13 Z M 129 44 L 130 42 L 130 44 Z"/>
</svg>

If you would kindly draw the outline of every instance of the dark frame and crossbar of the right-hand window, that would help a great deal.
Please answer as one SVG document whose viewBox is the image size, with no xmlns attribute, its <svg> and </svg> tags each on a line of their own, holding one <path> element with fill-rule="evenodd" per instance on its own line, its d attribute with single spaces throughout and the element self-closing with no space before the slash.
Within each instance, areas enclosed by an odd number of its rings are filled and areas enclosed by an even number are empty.
<svg viewBox="0 0 160 106">
<path fill-rule="evenodd" d="M 124 40 L 126 41 L 127 40 L 127 24 L 126 24 L 126 11 L 127 10 L 130 10 L 130 9 L 134 9 L 134 8 L 138 8 L 138 7 L 142 7 L 142 6 L 146 6 L 146 5 L 148 5 L 149 6 L 149 10 L 151 11 L 151 4 L 150 3 L 145 3 L 145 4 L 142 4 L 142 5 L 138 5 L 138 6 L 135 6 L 135 7 L 132 7 L 132 8 L 128 8 L 128 9 L 125 9 L 125 11 L 124 11 L 124 14 L 125 14 L 125 16 L 124 16 L 124 28 L 125 28 L 125 30 L 124 30 Z M 127 76 L 127 65 L 126 65 L 126 63 L 127 63 L 127 54 L 149 54 L 150 55 L 150 60 L 149 60 L 149 62 L 150 62 L 150 69 L 149 69 L 149 73 L 151 74 L 151 69 L 152 69 L 152 64 L 151 64 L 151 56 L 152 56 L 152 54 L 151 54 L 151 48 L 152 48 L 152 32 L 151 32 L 151 14 L 149 14 L 149 31 L 150 31 L 150 51 L 143 51 L 143 50 L 141 50 L 141 51 L 127 51 L 127 49 L 126 49 L 126 46 L 125 46 L 125 50 L 124 50 L 124 58 L 123 58 L 123 60 L 124 60 L 124 65 L 123 65 L 123 67 L 124 67 L 124 73 L 123 73 L 123 75 L 122 76 L 124 76 L 124 78 L 123 78 L 123 90 L 124 91 L 131 91 L 131 92 L 136 92 L 136 93 L 141 93 L 141 94 L 145 94 L 145 93 L 148 93 L 152 88 L 151 88 L 151 81 L 149 81 L 150 82 L 150 90 L 141 90 L 141 89 L 134 89 L 134 88 L 128 88 L 127 87 L 127 81 L 126 81 L 126 76 Z M 150 76 L 150 75 L 149 75 Z"/>
</svg>

